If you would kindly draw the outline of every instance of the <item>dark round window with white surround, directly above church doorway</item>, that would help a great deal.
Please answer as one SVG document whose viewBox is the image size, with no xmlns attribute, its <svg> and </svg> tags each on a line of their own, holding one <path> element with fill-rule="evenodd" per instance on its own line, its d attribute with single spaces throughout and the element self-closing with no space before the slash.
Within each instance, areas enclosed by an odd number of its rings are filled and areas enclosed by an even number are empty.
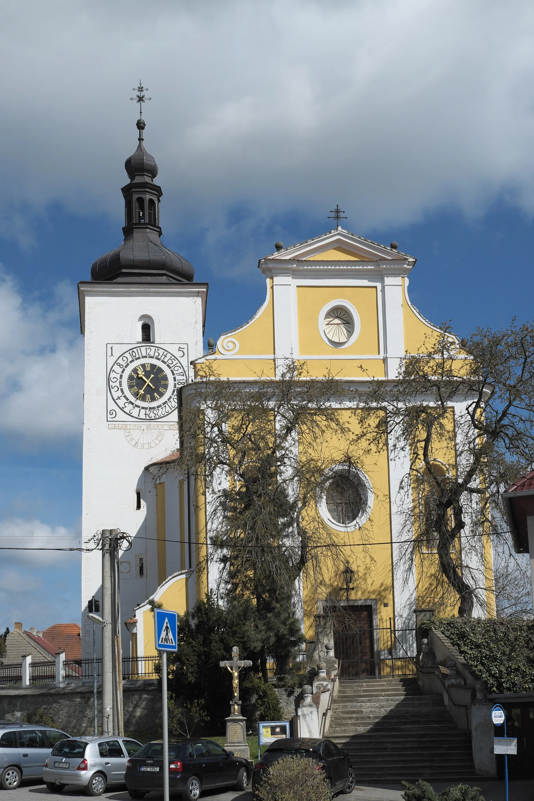
<svg viewBox="0 0 534 801">
<path fill-rule="evenodd" d="M 319 497 L 319 511 L 332 528 L 354 530 L 367 520 L 373 505 L 371 482 L 352 465 L 336 465 L 328 471 Z"/>
</svg>

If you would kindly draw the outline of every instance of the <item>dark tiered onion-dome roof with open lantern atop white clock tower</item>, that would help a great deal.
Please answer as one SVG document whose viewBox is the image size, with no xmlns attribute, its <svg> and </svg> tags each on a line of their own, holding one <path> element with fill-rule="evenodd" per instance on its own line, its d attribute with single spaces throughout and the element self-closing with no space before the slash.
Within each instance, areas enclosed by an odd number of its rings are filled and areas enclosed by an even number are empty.
<svg viewBox="0 0 534 801">
<path fill-rule="evenodd" d="M 162 244 L 159 227 L 161 187 L 154 183 L 158 165 L 143 147 L 145 122 L 138 119 L 139 145 L 126 159 L 124 167 L 130 183 L 122 187 L 126 225 L 124 242 L 93 262 L 92 281 L 118 281 L 128 284 L 176 284 L 192 281 L 191 264 Z"/>
</svg>

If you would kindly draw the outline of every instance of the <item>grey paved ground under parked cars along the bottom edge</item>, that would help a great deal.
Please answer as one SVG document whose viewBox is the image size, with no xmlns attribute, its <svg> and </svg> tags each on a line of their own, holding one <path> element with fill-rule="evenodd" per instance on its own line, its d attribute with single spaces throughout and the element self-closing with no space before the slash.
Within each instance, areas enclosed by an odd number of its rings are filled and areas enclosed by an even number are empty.
<svg viewBox="0 0 534 801">
<path fill-rule="evenodd" d="M 442 791 L 448 787 L 448 784 L 432 782 L 432 787 L 436 791 Z M 504 782 L 468 782 L 468 784 L 480 787 L 486 801 L 504 801 Z M 403 788 L 399 784 L 356 785 L 350 801 L 403 801 L 402 791 Z M 42 782 L 22 783 L 17 790 L 0 789 L 0 801 L 46 801 L 47 798 L 50 799 L 51 795 Z M 510 801 L 534 801 L 534 782 L 510 782 L 509 795 Z M 61 798 L 68 799 L 68 801 L 80 801 L 87 797 L 82 790 L 66 787 L 62 793 L 54 795 L 54 801 L 60 801 Z M 347 798 L 349 801 L 348 796 L 338 795 L 337 797 L 338 799 Z M 101 798 L 109 799 L 109 801 L 131 801 L 130 796 L 124 790 L 104 793 Z M 147 801 L 162 801 L 162 799 L 163 793 L 147 795 Z M 201 801 L 202 799 L 207 799 L 207 801 L 234 801 L 234 799 L 252 801 L 252 792 L 250 787 L 245 792 L 207 790 L 203 792 L 200 799 Z"/>
</svg>

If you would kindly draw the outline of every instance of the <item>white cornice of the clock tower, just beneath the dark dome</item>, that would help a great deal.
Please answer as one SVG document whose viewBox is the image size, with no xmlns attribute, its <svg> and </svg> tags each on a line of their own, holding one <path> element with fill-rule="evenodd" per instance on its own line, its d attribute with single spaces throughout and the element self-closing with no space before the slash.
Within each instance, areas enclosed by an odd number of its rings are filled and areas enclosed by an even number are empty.
<svg viewBox="0 0 534 801">
<path fill-rule="evenodd" d="M 208 284 L 108 284 L 104 281 L 80 281 L 78 304 L 80 330 L 85 336 L 87 297 L 199 297 L 202 302 L 202 322 L 206 323 Z"/>
</svg>

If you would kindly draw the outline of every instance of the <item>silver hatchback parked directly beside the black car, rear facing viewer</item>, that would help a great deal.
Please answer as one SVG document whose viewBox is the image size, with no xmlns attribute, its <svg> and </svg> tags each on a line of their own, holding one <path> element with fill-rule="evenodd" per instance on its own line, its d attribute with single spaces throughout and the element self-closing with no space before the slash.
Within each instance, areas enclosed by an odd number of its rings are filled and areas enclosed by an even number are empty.
<svg viewBox="0 0 534 801">
<path fill-rule="evenodd" d="M 130 737 L 71 737 L 54 745 L 42 778 L 50 792 L 77 785 L 87 795 L 102 795 L 106 785 L 124 784 L 126 761 L 141 743 Z"/>
</svg>

